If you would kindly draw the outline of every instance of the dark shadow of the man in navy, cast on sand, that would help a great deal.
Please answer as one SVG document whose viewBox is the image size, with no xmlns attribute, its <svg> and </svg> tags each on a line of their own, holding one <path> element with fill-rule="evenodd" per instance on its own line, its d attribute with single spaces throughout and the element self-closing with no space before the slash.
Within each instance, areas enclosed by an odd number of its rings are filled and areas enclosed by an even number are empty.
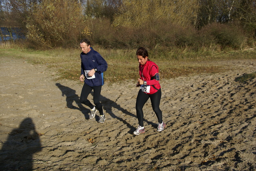
<svg viewBox="0 0 256 171">
<path fill-rule="evenodd" d="M 80 110 L 84 114 L 85 119 L 89 119 L 90 109 L 87 109 L 82 105 L 82 103 L 80 103 L 79 96 L 76 94 L 76 90 L 70 87 L 61 85 L 60 83 L 56 83 L 56 86 L 62 92 L 62 96 L 63 97 L 66 96 L 67 107 L 70 109 Z M 78 107 L 74 106 L 73 102 L 75 102 Z"/>
</svg>

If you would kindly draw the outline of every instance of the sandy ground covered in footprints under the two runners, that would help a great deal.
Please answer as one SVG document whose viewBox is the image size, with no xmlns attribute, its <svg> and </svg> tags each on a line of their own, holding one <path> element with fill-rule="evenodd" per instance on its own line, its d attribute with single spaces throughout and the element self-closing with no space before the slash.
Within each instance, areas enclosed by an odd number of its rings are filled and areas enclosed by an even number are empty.
<svg viewBox="0 0 256 171">
<path fill-rule="evenodd" d="M 144 106 L 138 126 L 136 81 L 106 83 L 105 123 L 79 103 L 82 83 L 54 81 L 56 73 L 24 60 L 0 61 L 0 170 L 256 170 L 256 60 L 222 61 L 220 74 L 161 80 L 166 129 Z M 89 99 L 92 99 L 90 94 Z"/>
</svg>

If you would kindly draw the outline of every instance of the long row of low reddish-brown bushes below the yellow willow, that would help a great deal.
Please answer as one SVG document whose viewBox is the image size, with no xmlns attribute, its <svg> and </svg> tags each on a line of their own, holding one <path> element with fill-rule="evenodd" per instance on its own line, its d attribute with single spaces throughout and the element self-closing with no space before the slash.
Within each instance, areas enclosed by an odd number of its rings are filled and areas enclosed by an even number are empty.
<svg viewBox="0 0 256 171">
<path fill-rule="evenodd" d="M 132 28 L 113 27 L 107 20 L 90 20 L 89 30 L 92 30 L 90 39 L 95 44 L 105 48 L 137 48 L 144 46 L 155 48 L 164 46 L 168 48 L 188 47 L 192 50 L 212 48 L 219 46 L 238 49 L 246 46 L 246 34 L 238 25 L 210 24 L 201 30 L 191 26 L 178 26 L 170 23 L 154 23 L 152 26 Z M 94 24 L 92 24 L 94 23 Z"/>
</svg>

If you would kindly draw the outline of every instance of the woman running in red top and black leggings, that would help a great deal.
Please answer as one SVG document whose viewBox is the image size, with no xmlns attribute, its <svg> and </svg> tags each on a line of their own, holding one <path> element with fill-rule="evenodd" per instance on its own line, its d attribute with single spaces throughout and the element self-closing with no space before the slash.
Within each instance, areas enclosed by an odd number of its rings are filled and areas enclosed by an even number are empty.
<svg viewBox="0 0 256 171">
<path fill-rule="evenodd" d="M 136 100 L 136 114 L 139 121 L 139 126 L 134 135 L 144 133 L 143 124 L 143 111 L 142 108 L 146 101 L 150 98 L 152 103 L 153 111 L 156 113 L 158 118 L 157 131 L 164 130 L 165 123 L 162 121 L 162 111 L 159 108 L 161 99 L 161 86 L 159 84 L 159 72 L 158 66 L 148 59 L 148 51 L 145 48 L 138 48 L 136 52 L 139 64 L 140 79 L 138 79 L 137 87 L 140 86 Z"/>
</svg>

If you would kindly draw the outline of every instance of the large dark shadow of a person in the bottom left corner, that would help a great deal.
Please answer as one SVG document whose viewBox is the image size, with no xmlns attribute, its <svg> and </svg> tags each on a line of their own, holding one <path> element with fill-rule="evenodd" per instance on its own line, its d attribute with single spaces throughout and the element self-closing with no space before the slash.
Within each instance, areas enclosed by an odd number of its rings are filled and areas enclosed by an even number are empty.
<svg viewBox="0 0 256 171">
<path fill-rule="evenodd" d="M 0 151 L 0 170 L 33 170 L 33 154 L 41 151 L 39 134 L 31 118 L 9 133 Z"/>
</svg>

